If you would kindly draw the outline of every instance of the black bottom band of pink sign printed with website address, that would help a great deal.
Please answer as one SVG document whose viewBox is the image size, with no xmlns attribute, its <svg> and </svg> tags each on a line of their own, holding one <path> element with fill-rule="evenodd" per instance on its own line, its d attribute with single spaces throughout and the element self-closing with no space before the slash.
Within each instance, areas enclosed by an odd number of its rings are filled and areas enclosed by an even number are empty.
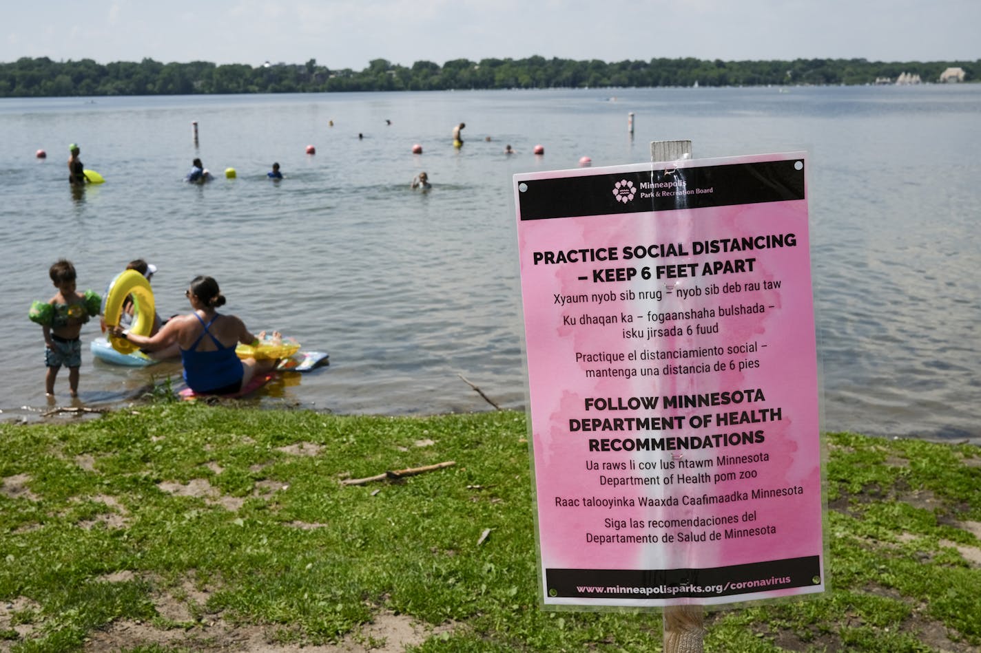
<svg viewBox="0 0 981 653">
<path fill-rule="evenodd" d="M 546 569 L 545 591 L 562 598 L 711 598 L 809 587 L 820 580 L 820 559 L 806 556 L 709 569 Z"/>
</svg>

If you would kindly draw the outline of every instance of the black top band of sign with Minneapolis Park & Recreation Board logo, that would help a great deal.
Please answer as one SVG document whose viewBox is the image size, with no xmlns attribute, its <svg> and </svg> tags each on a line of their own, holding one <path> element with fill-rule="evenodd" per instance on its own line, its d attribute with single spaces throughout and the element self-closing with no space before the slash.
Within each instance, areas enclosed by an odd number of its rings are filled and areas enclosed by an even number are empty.
<svg viewBox="0 0 981 653">
<path fill-rule="evenodd" d="M 803 161 L 766 161 L 522 181 L 521 220 L 804 199 Z"/>
</svg>

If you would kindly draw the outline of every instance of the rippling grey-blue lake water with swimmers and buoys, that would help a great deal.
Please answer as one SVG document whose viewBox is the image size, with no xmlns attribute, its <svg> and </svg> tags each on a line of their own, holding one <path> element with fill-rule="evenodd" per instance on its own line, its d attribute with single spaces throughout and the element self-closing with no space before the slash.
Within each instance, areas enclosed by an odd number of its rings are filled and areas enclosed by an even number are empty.
<svg viewBox="0 0 981 653">
<path fill-rule="evenodd" d="M 490 410 L 462 376 L 522 408 L 512 175 L 641 163 L 666 139 L 697 157 L 809 152 L 823 428 L 981 444 L 981 84 L 0 100 L 3 417 L 49 408 L 26 311 L 62 256 L 100 293 L 130 259 L 154 263 L 164 316 L 187 309 L 191 277 L 215 276 L 252 330 L 330 351 L 264 405 Z M 78 198 L 70 142 L 107 179 Z M 184 183 L 194 157 L 219 178 Z M 282 182 L 266 178 L 274 161 Z M 424 170 L 434 187 L 413 192 Z M 93 361 L 98 333 L 83 329 L 80 405 L 180 373 Z M 65 370 L 56 391 L 72 405 Z"/>
</svg>

